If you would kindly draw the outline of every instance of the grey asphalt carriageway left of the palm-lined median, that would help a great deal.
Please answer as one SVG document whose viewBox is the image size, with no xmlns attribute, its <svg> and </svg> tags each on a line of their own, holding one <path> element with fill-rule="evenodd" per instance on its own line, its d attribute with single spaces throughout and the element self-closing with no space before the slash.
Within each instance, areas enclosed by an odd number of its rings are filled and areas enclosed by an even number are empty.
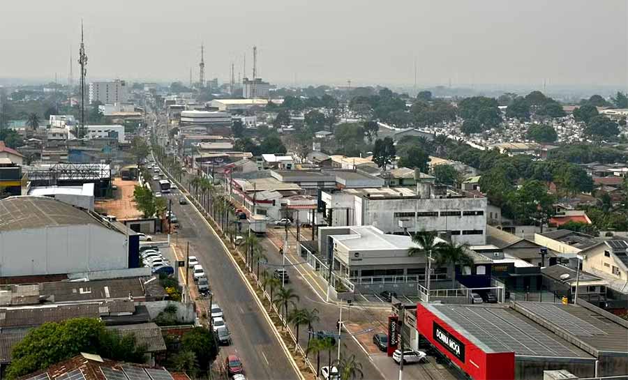
<svg viewBox="0 0 628 380">
<path fill-rule="evenodd" d="M 180 196 L 178 191 L 167 195 L 181 222 L 177 243 L 185 247 L 186 241 L 190 242 L 190 255 L 196 256 L 205 269 L 214 302 L 223 308 L 232 334 L 232 345 L 223 347 L 221 354 L 237 354 L 248 379 L 299 379 L 220 241 L 192 205 L 179 205 Z"/>
</svg>

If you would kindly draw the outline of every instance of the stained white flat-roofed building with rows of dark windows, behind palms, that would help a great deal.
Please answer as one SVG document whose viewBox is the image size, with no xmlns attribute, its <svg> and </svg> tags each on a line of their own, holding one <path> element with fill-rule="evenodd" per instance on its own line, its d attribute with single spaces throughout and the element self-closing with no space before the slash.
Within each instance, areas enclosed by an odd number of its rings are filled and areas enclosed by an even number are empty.
<svg viewBox="0 0 628 380">
<path fill-rule="evenodd" d="M 331 226 L 373 225 L 387 234 L 438 231 L 456 243 L 486 243 L 486 198 L 434 195 L 429 183 L 419 186 L 425 187 L 419 195 L 408 188 L 322 192 L 320 216 L 328 220 L 331 213 Z"/>
</svg>

